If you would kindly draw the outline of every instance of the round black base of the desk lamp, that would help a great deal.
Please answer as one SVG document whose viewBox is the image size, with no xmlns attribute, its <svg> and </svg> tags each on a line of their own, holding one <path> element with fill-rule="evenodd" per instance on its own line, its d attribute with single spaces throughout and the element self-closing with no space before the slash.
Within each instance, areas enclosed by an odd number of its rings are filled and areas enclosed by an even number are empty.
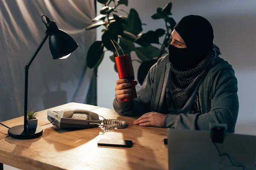
<svg viewBox="0 0 256 170">
<path fill-rule="evenodd" d="M 24 131 L 24 125 L 18 125 L 11 127 L 8 130 L 8 135 L 15 139 L 34 139 L 38 138 L 42 134 L 43 128 L 40 126 L 37 126 L 36 129 L 27 128 L 27 130 Z"/>
</svg>

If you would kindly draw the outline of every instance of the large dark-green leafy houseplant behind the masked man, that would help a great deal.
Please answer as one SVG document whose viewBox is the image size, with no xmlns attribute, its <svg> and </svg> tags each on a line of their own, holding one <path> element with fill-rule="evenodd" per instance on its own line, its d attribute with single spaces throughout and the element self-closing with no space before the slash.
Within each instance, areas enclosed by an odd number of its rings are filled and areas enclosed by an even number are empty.
<svg viewBox="0 0 256 170">
<path fill-rule="evenodd" d="M 104 26 L 104 28 L 102 29 L 102 40 L 94 42 L 87 52 L 87 66 L 93 68 L 97 74 L 97 69 L 102 62 L 105 51 L 113 52 L 110 59 L 115 62 L 114 57 L 117 56 L 117 53 L 111 43 L 111 40 L 115 40 L 119 42 L 125 54 L 131 56 L 131 51 L 135 51 L 137 59 L 132 61 L 141 63 L 137 79 L 142 84 L 151 66 L 157 62 L 157 59 L 166 54 L 165 48 L 169 45 L 171 31 L 176 25 L 175 20 L 169 17 L 172 15 L 172 3 L 167 3 L 163 8 L 157 8 L 156 13 L 151 15 L 153 20 L 164 20 L 166 29 L 158 28 L 154 31 L 142 33 L 142 26 L 145 24 L 141 22 L 138 12 L 134 8 L 131 8 L 129 13 L 118 8 L 120 5 L 128 6 L 128 0 L 97 1 L 105 6 L 99 10 L 100 15 L 92 19 L 93 24 L 86 27 L 85 30 L 99 26 Z M 113 4 L 113 6 L 110 7 L 110 4 Z M 127 16 L 117 15 L 118 11 L 125 12 Z M 163 42 L 160 43 L 159 38 L 163 36 Z M 105 51 L 104 48 L 106 48 Z M 121 51 L 119 54 L 122 54 Z M 116 65 L 113 66 L 116 70 Z"/>
</svg>

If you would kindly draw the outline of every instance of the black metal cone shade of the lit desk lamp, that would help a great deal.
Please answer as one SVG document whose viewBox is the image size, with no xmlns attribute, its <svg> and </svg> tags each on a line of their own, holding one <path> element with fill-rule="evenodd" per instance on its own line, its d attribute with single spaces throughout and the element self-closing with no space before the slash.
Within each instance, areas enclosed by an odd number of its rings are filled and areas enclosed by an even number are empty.
<svg viewBox="0 0 256 170">
<path fill-rule="evenodd" d="M 76 41 L 61 29 L 49 36 L 49 48 L 53 59 L 67 58 L 77 47 Z"/>
</svg>

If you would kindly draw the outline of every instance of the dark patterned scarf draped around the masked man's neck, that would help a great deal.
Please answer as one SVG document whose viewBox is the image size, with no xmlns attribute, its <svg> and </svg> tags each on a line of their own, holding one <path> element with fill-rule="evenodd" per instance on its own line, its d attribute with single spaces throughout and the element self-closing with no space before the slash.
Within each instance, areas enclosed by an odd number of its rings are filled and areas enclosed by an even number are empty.
<svg viewBox="0 0 256 170">
<path fill-rule="evenodd" d="M 215 57 L 221 54 L 218 46 L 213 46 L 207 57 L 189 71 L 178 71 L 170 63 L 171 68 L 166 87 L 166 102 L 170 113 L 184 107 L 198 82 L 207 74 L 209 64 L 213 63 Z"/>
</svg>

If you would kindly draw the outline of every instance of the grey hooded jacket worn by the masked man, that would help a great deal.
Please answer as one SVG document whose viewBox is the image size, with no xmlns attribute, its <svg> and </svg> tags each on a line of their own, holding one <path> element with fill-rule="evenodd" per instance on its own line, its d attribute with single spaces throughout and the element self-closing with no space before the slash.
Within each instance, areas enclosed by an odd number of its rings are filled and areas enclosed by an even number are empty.
<svg viewBox="0 0 256 170">
<path fill-rule="evenodd" d="M 235 131 L 239 111 L 237 79 L 232 66 L 216 57 L 212 67 L 192 96 L 198 93 L 202 113 L 169 114 L 166 105 L 166 85 L 170 69 L 169 55 L 160 58 L 148 71 L 137 98 L 128 102 L 113 101 L 114 110 L 122 116 L 141 116 L 148 112 L 166 114 L 164 127 L 209 130 L 209 124 L 227 124 L 227 131 Z M 193 101 L 189 99 L 188 102 Z M 195 99 L 194 99 L 195 101 Z M 194 102 L 193 102 L 194 103 Z"/>
</svg>

